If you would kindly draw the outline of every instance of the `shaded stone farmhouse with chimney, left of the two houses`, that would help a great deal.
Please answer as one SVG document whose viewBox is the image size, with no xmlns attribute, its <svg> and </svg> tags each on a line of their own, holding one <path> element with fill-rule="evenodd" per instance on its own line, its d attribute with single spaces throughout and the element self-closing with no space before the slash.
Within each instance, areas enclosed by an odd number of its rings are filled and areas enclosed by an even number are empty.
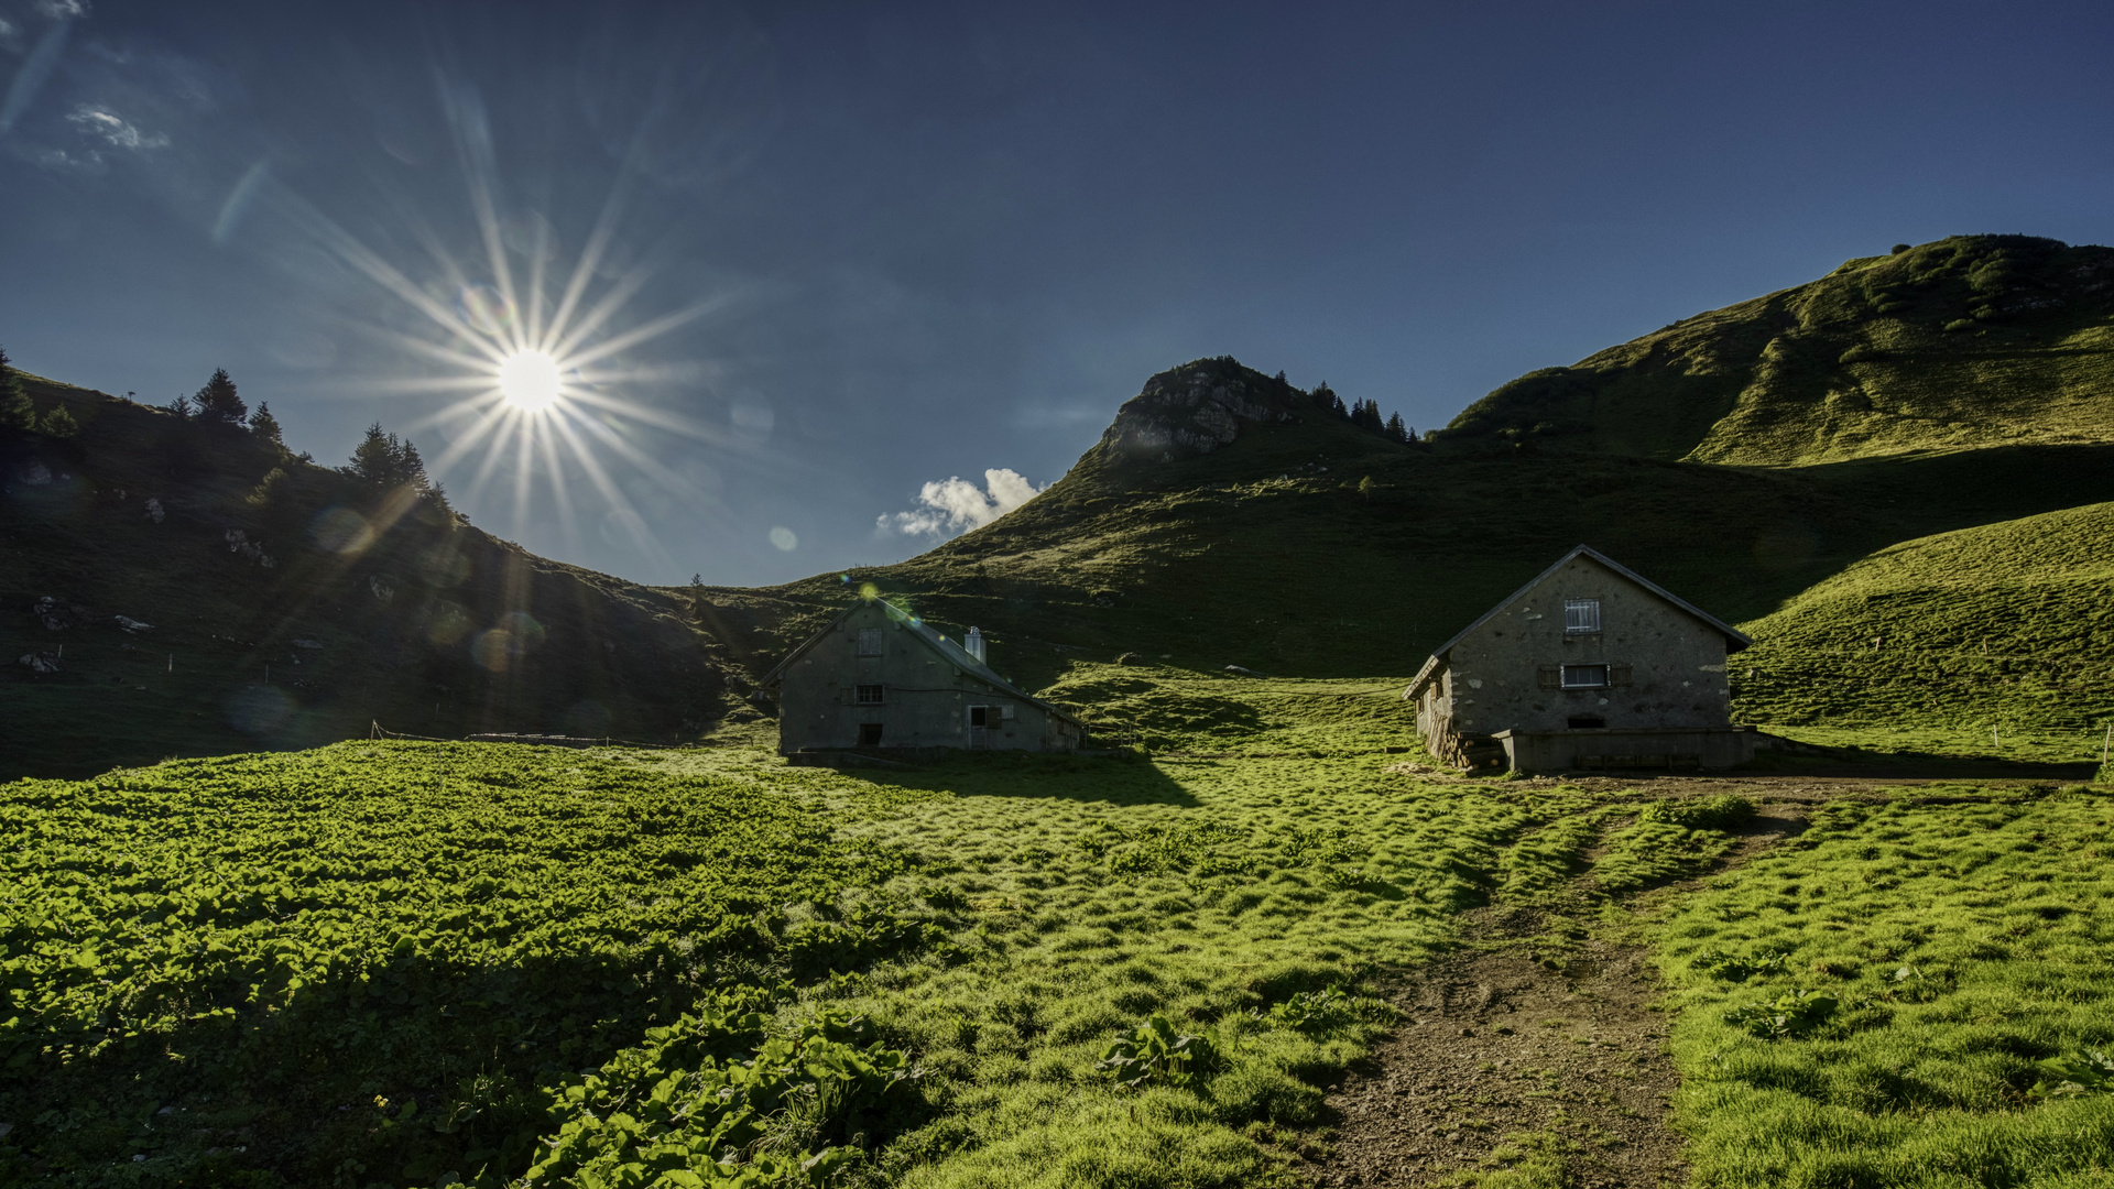
<svg viewBox="0 0 2114 1189">
<path fill-rule="evenodd" d="M 778 751 L 1076 751 L 1087 728 L 985 664 L 983 633 L 953 641 L 886 599 L 860 599 L 763 677 Z"/>
</svg>

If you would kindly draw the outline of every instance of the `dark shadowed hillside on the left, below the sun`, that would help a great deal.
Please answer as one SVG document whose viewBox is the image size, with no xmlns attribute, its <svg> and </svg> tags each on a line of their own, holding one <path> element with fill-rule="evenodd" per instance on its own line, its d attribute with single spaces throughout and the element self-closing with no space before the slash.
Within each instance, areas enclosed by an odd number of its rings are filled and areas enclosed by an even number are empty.
<svg viewBox="0 0 2114 1189">
<path fill-rule="evenodd" d="M 80 432 L 0 438 L 0 776 L 307 747 L 372 721 L 666 738 L 738 705 L 683 601 L 239 427 L 23 381 Z"/>
</svg>

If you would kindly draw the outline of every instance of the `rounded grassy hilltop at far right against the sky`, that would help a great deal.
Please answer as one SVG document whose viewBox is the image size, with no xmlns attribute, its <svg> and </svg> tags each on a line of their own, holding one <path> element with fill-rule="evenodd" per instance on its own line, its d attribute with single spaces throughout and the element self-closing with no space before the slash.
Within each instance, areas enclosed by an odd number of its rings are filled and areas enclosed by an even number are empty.
<svg viewBox="0 0 2114 1189">
<path fill-rule="evenodd" d="M 2114 250 L 1960 235 L 1850 260 L 1528 372 L 1440 436 L 1761 465 L 2114 440 Z"/>
</svg>

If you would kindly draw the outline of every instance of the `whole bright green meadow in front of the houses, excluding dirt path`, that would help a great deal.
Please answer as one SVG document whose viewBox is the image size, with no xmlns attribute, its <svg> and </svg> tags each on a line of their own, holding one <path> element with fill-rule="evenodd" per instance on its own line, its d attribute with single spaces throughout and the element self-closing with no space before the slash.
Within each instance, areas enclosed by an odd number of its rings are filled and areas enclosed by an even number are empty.
<svg viewBox="0 0 2114 1189">
<path fill-rule="evenodd" d="M 1698 1185 L 2114 1170 L 2106 789 L 1858 791 L 1725 865 L 1746 800 L 1423 772 L 1393 688 L 1070 681 L 1129 749 L 0 785 L 0 1181 L 1294 1185 L 1490 903 L 1649 946 Z"/>
</svg>

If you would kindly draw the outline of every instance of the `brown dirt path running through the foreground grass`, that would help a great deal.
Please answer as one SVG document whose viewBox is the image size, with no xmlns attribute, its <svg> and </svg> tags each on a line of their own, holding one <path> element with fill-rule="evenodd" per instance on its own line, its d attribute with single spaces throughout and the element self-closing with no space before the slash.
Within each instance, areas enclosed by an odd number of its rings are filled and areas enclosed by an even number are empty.
<svg viewBox="0 0 2114 1189">
<path fill-rule="evenodd" d="M 1719 870 L 1803 829 L 1803 808 L 1763 806 Z M 1640 946 L 1592 937 L 1590 886 L 1575 893 L 1476 910 L 1461 952 L 1387 986 L 1404 1022 L 1330 1087 L 1336 1136 L 1309 1181 L 1416 1187 L 1535 1164 L 1579 1189 L 1687 1181 L 1657 975 Z"/>
</svg>

